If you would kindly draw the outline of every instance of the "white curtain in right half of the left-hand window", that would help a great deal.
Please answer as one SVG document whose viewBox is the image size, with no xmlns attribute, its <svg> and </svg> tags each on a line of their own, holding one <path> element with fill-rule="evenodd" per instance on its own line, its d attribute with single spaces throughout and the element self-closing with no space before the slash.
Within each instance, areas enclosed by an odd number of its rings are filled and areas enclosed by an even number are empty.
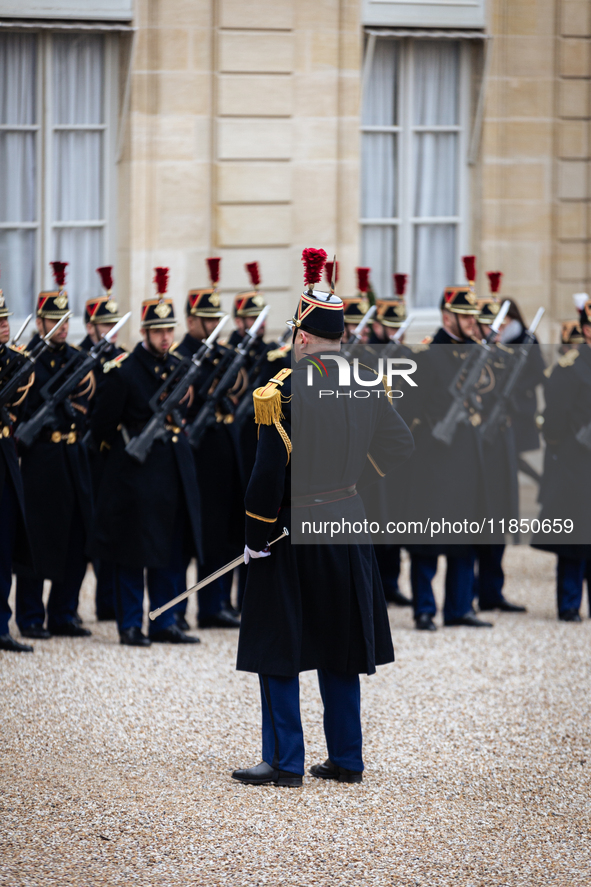
<svg viewBox="0 0 591 887">
<path fill-rule="evenodd" d="M 53 38 L 53 123 L 84 126 L 104 122 L 104 38 L 65 35 Z M 57 130 L 53 142 L 52 221 L 103 218 L 104 131 Z M 97 293 L 95 269 L 103 261 L 103 230 L 53 228 L 54 259 L 69 262 L 70 307 L 82 314 Z"/>
</svg>

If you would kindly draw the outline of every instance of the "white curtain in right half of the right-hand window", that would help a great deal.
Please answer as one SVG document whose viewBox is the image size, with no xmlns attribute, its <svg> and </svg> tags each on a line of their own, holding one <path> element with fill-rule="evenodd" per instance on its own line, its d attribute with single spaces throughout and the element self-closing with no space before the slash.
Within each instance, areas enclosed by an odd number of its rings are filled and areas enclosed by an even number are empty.
<svg viewBox="0 0 591 887">
<path fill-rule="evenodd" d="M 459 44 L 424 40 L 414 46 L 415 126 L 454 126 L 459 122 Z M 417 218 L 458 214 L 458 134 L 415 132 L 414 206 Z M 413 243 L 413 292 L 417 307 L 439 304 L 454 283 L 455 224 L 417 224 Z"/>
</svg>

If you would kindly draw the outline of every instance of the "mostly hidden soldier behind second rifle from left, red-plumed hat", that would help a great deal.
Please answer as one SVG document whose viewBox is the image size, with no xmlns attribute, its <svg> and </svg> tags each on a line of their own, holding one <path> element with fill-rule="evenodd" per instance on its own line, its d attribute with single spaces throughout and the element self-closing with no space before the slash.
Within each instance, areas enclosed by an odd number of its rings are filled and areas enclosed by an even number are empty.
<svg viewBox="0 0 591 887">
<path fill-rule="evenodd" d="M 121 320 L 122 313 L 115 299 L 112 297 L 113 275 L 112 266 L 105 265 L 97 268 L 101 277 L 106 294 L 104 296 L 89 299 L 84 307 L 84 320 L 86 322 L 85 338 L 80 342 L 83 351 L 90 351 L 93 345 L 96 345 L 103 336 L 109 333 L 115 324 Z M 107 372 L 111 367 L 111 361 L 115 360 L 125 352 L 124 348 L 117 345 L 117 336 L 111 340 L 110 346 L 101 354 L 97 361 L 94 371 L 96 379 L 97 393 L 93 400 L 93 404 L 98 402 L 101 389 L 106 381 L 105 367 Z M 90 418 L 90 417 L 89 417 Z M 95 501 L 98 497 L 101 479 L 105 468 L 106 452 L 99 453 L 94 447 L 88 452 L 90 461 L 90 473 L 92 475 L 92 489 Z M 95 607 L 96 618 L 99 622 L 116 618 L 115 613 L 115 590 L 113 586 L 113 566 L 108 561 L 95 561 L 93 568 L 96 576 L 95 591 Z"/>
</svg>

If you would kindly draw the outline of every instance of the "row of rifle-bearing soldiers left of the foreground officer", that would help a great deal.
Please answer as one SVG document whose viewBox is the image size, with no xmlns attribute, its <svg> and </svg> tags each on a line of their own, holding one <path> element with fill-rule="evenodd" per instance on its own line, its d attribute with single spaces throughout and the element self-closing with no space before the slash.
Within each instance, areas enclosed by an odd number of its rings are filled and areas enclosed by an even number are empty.
<svg viewBox="0 0 591 887">
<path fill-rule="evenodd" d="M 259 316 L 265 303 L 253 263 L 253 289 L 235 299 L 235 334 L 228 344 L 216 341 L 207 349 L 194 384 L 165 417 L 147 457 L 134 460 L 126 451 L 130 440 L 144 428 L 158 401 L 168 402 L 172 380 L 183 376 L 189 359 L 224 315 L 217 291 L 220 260 L 208 260 L 210 286 L 189 293 L 187 333 L 180 343 L 175 342 L 178 320 L 167 296 L 168 269 L 156 269 L 157 293 L 142 303 L 142 340 L 131 353 L 113 337 L 124 319 L 112 297 L 112 269 L 97 269 L 105 295 L 87 302 L 88 335 L 75 346 L 67 341 L 66 263 L 52 264 L 57 286 L 39 296 L 37 333 L 26 349 L 5 344 L 10 328 L 3 299 L 0 307 L 0 372 L 6 371 L 7 381 L 19 370 L 25 372 L 18 397 L 3 410 L 0 428 L 0 646 L 32 649 L 8 633 L 13 570 L 15 615 L 24 638 L 90 635 L 78 616 L 89 559 L 97 576 L 97 617 L 116 618 L 121 643 L 198 643 L 186 633 L 182 607 L 152 622 L 149 637 L 143 634 L 144 586 L 151 605 L 159 606 L 185 589 L 192 557 L 203 578 L 242 551 L 242 500 L 254 461 L 256 428 L 247 421 L 248 411 L 243 411 L 243 421 L 235 421 L 237 406 L 265 373 L 289 360 L 289 346 L 263 341 Z M 257 318 L 258 334 L 246 335 Z M 243 345 L 240 370 L 218 396 L 220 376 L 225 368 L 231 372 L 236 344 Z M 75 384 L 60 399 L 68 379 Z M 185 426 L 210 401 L 193 449 Z M 39 425 L 41 415 L 45 419 Z M 16 440 L 26 435 L 31 423 L 39 429 L 17 451 L 15 435 Z M 51 583 L 46 604 L 45 580 Z M 239 626 L 230 602 L 231 582 L 231 575 L 223 577 L 200 593 L 201 628 Z"/>
</svg>

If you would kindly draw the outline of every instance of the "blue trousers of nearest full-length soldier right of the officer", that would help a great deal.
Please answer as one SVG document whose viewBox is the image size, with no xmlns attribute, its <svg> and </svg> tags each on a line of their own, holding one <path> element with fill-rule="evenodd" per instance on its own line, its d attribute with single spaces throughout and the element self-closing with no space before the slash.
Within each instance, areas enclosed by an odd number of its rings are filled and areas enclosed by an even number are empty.
<svg viewBox="0 0 591 887">
<path fill-rule="evenodd" d="M 461 557 L 447 555 L 445 573 L 445 604 L 443 618 L 461 619 L 472 610 L 474 589 L 474 554 Z M 431 585 L 437 572 L 436 554 L 411 553 L 410 583 L 415 618 L 423 613 L 434 616 L 437 605 Z"/>
</svg>

